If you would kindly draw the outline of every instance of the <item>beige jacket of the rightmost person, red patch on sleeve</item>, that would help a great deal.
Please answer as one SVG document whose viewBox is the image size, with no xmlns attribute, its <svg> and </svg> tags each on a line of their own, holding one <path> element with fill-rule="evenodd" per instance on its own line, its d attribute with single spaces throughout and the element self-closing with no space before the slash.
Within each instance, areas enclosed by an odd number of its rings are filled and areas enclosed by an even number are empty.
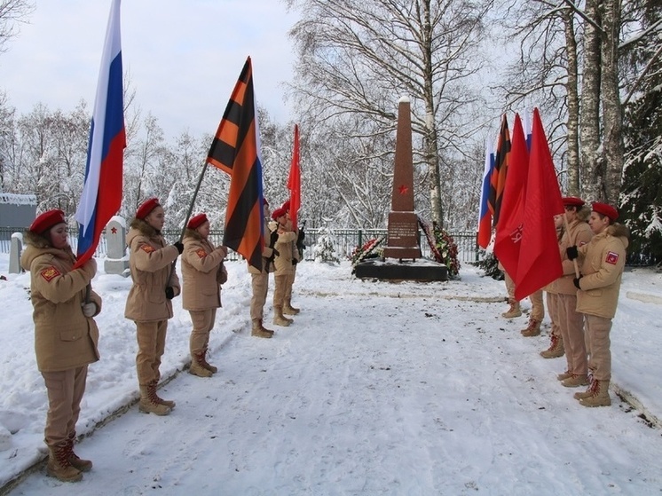
<svg viewBox="0 0 662 496">
<path fill-rule="evenodd" d="M 579 279 L 577 311 L 613 319 L 619 303 L 627 244 L 627 228 L 614 224 L 578 248 L 583 277 Z"/>
</svg>

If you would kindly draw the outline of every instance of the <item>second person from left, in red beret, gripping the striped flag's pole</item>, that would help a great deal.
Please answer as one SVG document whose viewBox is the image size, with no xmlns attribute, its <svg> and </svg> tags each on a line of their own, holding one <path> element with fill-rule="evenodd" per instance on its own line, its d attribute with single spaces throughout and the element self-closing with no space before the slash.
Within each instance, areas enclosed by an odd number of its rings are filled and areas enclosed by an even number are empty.
<svg viewBox="0 0 662 496">
<path fill-rule="evenodd" d="M 159 398 L 156 388 L 161 379 L 159 367 L 165 351 L 168 319 L 173 316 L 171 300 L 180 293 L 174 262 L 184 251 L 179 241 L 166 244 L 161 233 L 163 224 L 163 207 L 156 198 L 150 198 L 138 207 L 126 236 L 133 285 L 124 317 L 136 323 L 138 409 L 156 415 L 168 415 L 175 407 L 174 401 Z"/>
</svg>

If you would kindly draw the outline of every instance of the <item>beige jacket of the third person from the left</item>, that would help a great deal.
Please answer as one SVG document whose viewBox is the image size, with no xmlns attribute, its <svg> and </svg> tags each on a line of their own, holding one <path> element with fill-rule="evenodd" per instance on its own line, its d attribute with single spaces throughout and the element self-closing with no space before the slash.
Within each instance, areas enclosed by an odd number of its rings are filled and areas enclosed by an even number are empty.
<svg viewBox="0 0 662 496">
<path fill-rule="evenodd" d="M 214 248 L 198 232 L 186 230 L 181 260 L 182 306 L 185 310 L 209 310 L 221 306 L 225 256 L 225 248 Z"/>
</svg>

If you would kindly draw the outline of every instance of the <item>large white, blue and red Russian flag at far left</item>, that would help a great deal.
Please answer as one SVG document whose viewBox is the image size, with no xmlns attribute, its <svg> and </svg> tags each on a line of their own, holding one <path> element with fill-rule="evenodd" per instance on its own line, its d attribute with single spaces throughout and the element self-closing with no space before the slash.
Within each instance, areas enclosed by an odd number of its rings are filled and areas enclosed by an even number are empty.
<svg viewBox="0 0 662 496">
<path fill-rule="evenodd" d="M 75 213 L 80 224 L 75 267 L 94 255 L 101 232 L 122 205 L 125 147 L 120 0 L 113 0 L 92 114 L 85 184 Z"/>
</svg>

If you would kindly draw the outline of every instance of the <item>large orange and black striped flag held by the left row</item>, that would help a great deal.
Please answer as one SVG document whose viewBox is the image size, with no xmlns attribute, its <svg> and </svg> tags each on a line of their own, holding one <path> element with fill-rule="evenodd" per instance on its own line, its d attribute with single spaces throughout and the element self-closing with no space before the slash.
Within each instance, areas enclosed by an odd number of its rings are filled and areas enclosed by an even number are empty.
<svg viewBox="0 0 662 496">
<path fill-rule="evenodd" d="M 253 67 L 248 57 L 211 142 L 207 162 L 231 176 L 223 244 L 261 270 L 264 219 L 259 143 Z"/>
</svg>

